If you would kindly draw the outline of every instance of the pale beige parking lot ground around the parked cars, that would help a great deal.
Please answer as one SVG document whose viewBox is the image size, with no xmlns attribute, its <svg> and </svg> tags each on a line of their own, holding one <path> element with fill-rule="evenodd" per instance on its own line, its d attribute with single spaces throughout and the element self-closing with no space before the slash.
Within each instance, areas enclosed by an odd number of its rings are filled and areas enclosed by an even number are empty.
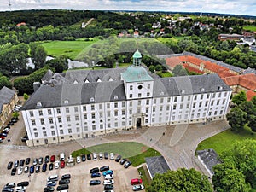
<svg viewBox="0 0 256 192">
<path fill-rule="evenodd" d="M 1 160 L 3 160 L 3 156 L 1 156 Z M 20 159 L 26 159 L 26 156 L 20 157 Z M 9 160 L 9 158 L 8 158 Z M 14 161 L 14 160 L 13 160 Z M 22 173 L 20 175 L 15 174 L 15 176 L 10 175 L 10 170 L 7 170 L 8 161 L 5 161 L 2 165 L 0 183 L 1 189 L 6 183 L 19 183 L 22 181 L 29 181 L 29 186 L 26 187 L 26 191 L 44 191 L 44 187 L 46 186 L 46 180 L 50 175 L 58 174 L 59 177 L 64 174 L 71 174 L 71 180 L 69 184 L 69 191 L 91 191 L 91 192 L 102 192 L 104 190 L 103 180 L 104 177 L 96 177 L 90 178 L 90 169 L 94 167 L 101 166 L 109 166 L 111 170 L 113 170 L 113 180 L 114 180 L 114 191 L 132 191 L 131 188 L 131 179 L 139 178 L 139 173 L 137 172 L 137 168 L 130 166 L 125 169 L 124 166 L 120 165 L 119 162 L 115 162 L 115 160 L 86 160 L 85 162 L 81 162 L 72 167 L 65 167 L 63 169 L 53 169 L 49 171 L 47 169 L 46 172 L 38 172 L 38 173 Z M 48 163 L 49 164 L 49 163 Z M 32 166 L 32 161 L 29 166 Z M 102 173 L 102 172 L 101 172 Z M 100 185 L 90 186 L 90 180 L 99 179 L 101 180 Z M 56 189 L 56 186 L 55 186 Z"/>
</svg>

